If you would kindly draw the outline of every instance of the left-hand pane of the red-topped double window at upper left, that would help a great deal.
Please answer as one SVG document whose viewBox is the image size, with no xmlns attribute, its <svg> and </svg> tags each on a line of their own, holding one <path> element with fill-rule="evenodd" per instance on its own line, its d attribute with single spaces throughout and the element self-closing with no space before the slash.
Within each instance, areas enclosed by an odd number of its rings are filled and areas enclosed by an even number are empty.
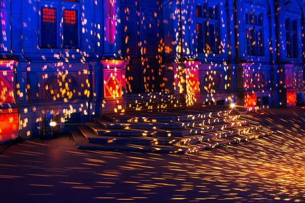
<svg viewBox="0 0 305 203">
<path fill-rule="evenodd" d="M 57 48 L 56 8 L 41 7 L 40 32 L 42 48 Z"/>
</svg>

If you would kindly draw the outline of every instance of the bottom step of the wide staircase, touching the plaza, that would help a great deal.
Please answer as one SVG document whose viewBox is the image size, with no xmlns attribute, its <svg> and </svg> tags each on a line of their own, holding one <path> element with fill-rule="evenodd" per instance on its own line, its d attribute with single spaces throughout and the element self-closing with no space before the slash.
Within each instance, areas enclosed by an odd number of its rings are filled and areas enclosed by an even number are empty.
<svg viewBox="0 0 305 203">
<path fill-rule="evenodd" d="M 100 150 L 100 151 L 130 151 L 130 152 L 157 152 L 157 153 L 192 153 L 206 149 L 232 145 L 235 143 L 245 142 L 264 136 L 269 136 L 272 131 L 262 127 L 260 131 L 239 134 L 232 137 L 200 142 L 187 146 L 161 146 L 161 145 L 119 145 L 119 144 L 94 144 L 88 143 L 78 130 L 71 131 L 77 148 L 83 150 Z"/>
</svg>

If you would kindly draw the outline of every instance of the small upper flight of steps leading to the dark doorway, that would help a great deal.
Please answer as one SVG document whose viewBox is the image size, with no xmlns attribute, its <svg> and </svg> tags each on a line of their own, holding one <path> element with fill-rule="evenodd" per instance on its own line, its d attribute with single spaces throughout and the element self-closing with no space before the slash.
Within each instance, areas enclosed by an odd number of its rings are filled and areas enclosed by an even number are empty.
<svg viewBox="0 0 305 203">
<path fill-rule="evenodd" d="M 127 111 L 140 110 L 167 110 L 168 108 L 186 106 L 183 100 L 176 99 L 169 92 L 148 92 L 139 94 L 127 94 Z"/>
</svg>

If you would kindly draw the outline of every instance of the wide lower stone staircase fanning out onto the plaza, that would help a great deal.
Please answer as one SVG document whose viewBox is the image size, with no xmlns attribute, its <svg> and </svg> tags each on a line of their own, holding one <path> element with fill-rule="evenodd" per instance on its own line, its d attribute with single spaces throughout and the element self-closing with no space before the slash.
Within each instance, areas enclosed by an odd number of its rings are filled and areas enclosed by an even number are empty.
<svg viewBox="0 0 305 203">
<path fill-rule="evenodd" d="M 192 153 L 269 136 L 247 115 L 223 106 L 108 114 L 72 131 L 79 149 Z"/>
</svg>

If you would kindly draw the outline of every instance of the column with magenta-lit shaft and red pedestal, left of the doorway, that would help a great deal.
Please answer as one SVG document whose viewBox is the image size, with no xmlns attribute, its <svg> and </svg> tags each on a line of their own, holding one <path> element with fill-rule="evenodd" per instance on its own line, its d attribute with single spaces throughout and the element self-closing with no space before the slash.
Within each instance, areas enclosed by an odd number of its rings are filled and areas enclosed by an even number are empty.
<svg viewBox="0 0 305 203">
<path fill-rule="evenodd" d="M 100 115 L 123 113 L 126 110 L 126 65 L 121 58 L 120 1 L 103 0 L 104 3 L 104 50 L 102 64 L 102 101 Z M 97 76 L 95 76 L 97 77 Z M 98 89 L 96 89 L 98 91 Z"/>
</svg>

